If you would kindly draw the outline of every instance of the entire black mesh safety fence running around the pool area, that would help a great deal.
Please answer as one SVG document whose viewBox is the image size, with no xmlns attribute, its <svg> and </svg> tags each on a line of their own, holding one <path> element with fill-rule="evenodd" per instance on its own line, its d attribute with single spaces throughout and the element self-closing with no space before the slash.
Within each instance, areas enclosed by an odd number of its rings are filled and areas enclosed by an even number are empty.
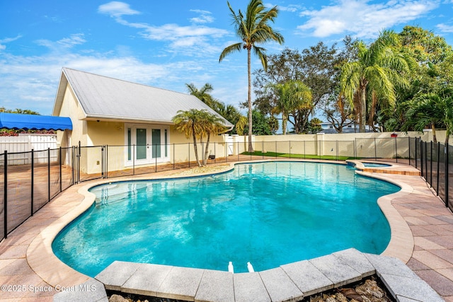
<svg viewBox="0 0 453 302">
<path fill-rule="evenodd" d="M 0 154 L 0 240 L 71 185 L 98 178 L 132 176 L 197 165 L 193 144 L 74 146 Z M 453 148 L 419 138 L 357 138 L 353 141 L 258 141 L 211 143 L 207 164 L 272 158 L 386 159 L 413 165 L 445 206 L 453 210 L 449 181 Z M 137 150 L 148 150 L 137 156 Z M 199 145 L 200 161 L 205 145 Z M 137 159 L 138 158 L 138 159 Z M 144 162 L 146 161 L 146 162 Z M 450 189 L 450 190 L 449 190 Z"/>
</svg>

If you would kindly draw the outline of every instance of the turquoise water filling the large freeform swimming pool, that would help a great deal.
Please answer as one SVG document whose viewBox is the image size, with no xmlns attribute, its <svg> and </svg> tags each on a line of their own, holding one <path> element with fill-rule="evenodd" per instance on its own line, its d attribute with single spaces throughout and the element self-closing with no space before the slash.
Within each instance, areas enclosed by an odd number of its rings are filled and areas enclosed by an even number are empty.
<svg viewBox="0 0 453 302">
<path fill-rule="evenodd" d="M 115 260 L 247 272 L 346 248 L 380 253 L 390 229 L 377 199 L 397 192 L 347 165 L 240 164 L 202 178 L 93 187 L 96 204 L 52 243 L 93 277 Z"/>
</svg>

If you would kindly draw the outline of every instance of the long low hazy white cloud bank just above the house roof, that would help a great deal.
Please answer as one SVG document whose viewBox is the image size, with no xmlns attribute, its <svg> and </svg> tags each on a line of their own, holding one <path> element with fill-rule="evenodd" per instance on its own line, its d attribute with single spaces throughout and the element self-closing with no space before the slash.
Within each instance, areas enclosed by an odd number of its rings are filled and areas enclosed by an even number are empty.
<svg viewBox="0 0 453 302">
<path fill-rule="evenodd" d="M 68 42 L 71 37 L 59 41 L 45 40 L 47 47 Z M 75 39 L 77 40 L 77 39 Z M 194 48 L 195 50 L 196 48 Z M 42 54 L 39 56 L 19 56 L 2 52 L 0 59 L 0 86 L 1 105 L 8 109 L 23 108 L 40 112 L 42 115 L 52 113 L 55 93 L 60 79 L 62 67 L 69 67 L 81 71 L 88 71 L 116 79 L 143 83 L 145 85 L 166 88 L 172 91 L 185 93 L 185 83 L 212 83 L 218 87 L 216 93 L 222 93 L 226 87 L 239 87 L 246 83 L 246 72 L 238 71 L 246 68 L 246 64 L 219 64 L 212 57 L 197 57 L 197 59 L 179 60 L 171 62 L 156 59 L 155 62 L 144 62 L 132 54 L 117 54 L 117 52 L 72 52 L 67 48 L 64 52 Z M 209 71 L 209 72 L 207 72 Z M 231 76 L 231 72 L 233 75 Z M 244 79 L 241 85 L 236 83 L 239 72 Z M 244 84 L 245 85 L 245 84 Z M 222 88 L 222 86 L 224 86 Z M 226 89 L 228 91 L 228 89 Z M 218 94 L 217 94 L 218 95 Z M 235 95 L 241 97 L 235 98 Z M 246 89 L 231 92 L 231 89 L 222 96 L 222 101 L 238 105 L 246 98 Z"/>
</svg>

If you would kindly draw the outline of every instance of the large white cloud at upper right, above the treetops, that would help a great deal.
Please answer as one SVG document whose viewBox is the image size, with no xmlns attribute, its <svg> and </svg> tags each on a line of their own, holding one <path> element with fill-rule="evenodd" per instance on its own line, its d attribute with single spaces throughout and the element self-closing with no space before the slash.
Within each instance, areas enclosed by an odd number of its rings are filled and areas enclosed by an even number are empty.
<svg viewBox="0 0 453 302">
<path fill-rule="evenodd" d="M 299 33 L 314 37 L 352 34 L 356 37 L 376 37 L 384 28 L 413 21 L 433 9 L 439 1 L 390 0 L 369 4 L 369 0 L 339 0 L 335 5 L 319 10 L 303 11 L 308 21 L 297 28 Z"/>
</svg>

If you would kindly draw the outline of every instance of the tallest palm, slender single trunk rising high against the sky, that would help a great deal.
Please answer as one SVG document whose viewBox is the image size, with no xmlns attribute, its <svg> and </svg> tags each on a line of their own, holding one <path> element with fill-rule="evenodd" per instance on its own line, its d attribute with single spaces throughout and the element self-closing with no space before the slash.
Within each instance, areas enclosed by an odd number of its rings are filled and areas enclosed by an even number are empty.
<svg viewBox="0 0 453 302">
<path fill-rule="evenodd" d="M 229 10 L 233 18 L 236 35 L 241 39 L 241 42 L 227 46 L 220 54 L 219 62 L 226 55 L 233 52 L 241 52 L 242 49 L 247 50 L 247 71 L 248 71 L 248 152 L 253 152 L 252 145 L 252 100 L 251 100 L 251 50 L 260 58 L 261 64 L 265 70 L 268 69 L 268 60 L 266 59 L 265 49 L 257 45 L 265 42 L 275 41 L 279 44 L 284 42 L 283 36 L 270 27 L 269 22 L 274 22 L 277 17 L 277 6 L 265 10 L 262 0 L 251 0 L 247 6 L 246 16 L 241 10 L 236 14 L 231 8 L 229 2 Z"/>
</svg>

